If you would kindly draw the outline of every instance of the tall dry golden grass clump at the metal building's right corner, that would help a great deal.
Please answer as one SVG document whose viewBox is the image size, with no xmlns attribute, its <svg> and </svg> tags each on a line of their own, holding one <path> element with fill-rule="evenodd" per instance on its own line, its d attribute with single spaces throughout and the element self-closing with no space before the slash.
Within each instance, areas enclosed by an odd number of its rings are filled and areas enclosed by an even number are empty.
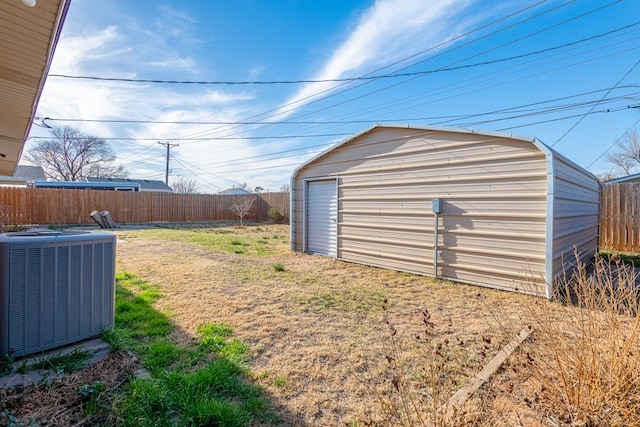
<svg viewBox="0 0 640 427">
<path fill-rule="evenodd" d="M 576 256 L 576 258 L 578 258 Z M 554 425 L 640 424 L 640 288 L 620 260 L 577 262 L 554 289 L 532 301 L 536 325 L 521 366 L 536 384 L 530 406 Z"/>
</svg>

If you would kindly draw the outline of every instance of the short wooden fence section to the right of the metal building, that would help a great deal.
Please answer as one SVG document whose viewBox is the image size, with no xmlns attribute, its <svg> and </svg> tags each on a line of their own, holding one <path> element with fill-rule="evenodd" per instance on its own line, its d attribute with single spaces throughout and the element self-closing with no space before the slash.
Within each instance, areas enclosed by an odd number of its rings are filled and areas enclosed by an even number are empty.
<svg viewBox="0 0 640 427">
<path fill-rule="evenodd" d="M 600 186 L 600 248 L 640 252 L 640 183 Z"/>
</svg>

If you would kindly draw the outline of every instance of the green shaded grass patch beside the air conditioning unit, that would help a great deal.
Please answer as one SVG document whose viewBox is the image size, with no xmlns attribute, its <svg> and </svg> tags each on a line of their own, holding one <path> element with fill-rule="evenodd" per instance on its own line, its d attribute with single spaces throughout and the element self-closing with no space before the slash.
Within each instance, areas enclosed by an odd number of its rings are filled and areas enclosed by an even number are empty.
<svg viewBox="0 0 640 427">
<path fill-rule="evenodd" d="M 115 349 L 136 353 L 150 378 L 133 379 L 115 396 L 114 424 L 291 424 L 252 382 L 244 364 L 249 347 L 234 339 L 228 326 L 205 325 L 200 340 L 179 346 L 170 337 L 181 332 L 153 307 L 162 298 L 160 290 L 128 273 L 118 273 L 117 281 L 116 326 L 104 338 Z"/>
</svg>

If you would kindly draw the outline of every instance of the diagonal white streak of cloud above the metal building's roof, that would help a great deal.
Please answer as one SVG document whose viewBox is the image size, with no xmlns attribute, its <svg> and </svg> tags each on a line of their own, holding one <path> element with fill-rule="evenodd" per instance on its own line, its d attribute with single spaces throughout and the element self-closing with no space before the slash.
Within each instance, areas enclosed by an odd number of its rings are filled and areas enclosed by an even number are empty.
<svg viewBox="0 0 640 427">
<path fill-rule="evenodd" d="M 371 72 L 451 37 L 451 18 L 472 0 L 378 0 L 354 25 L 344 42 L 311 80 L 331 80 Z M 455 36 L 455 34 L 454 34 Z M 309 83 L 290 97 L 278 113 L 282 120 L 299 107 L 331 92 L 336 83 Z"/>
</svg>

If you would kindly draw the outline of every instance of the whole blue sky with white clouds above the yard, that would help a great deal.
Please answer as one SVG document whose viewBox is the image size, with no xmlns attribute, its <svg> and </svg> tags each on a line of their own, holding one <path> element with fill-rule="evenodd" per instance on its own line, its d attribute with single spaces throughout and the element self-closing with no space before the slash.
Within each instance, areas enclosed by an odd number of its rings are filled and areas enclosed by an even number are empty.
<svg viewBox="0 0 640 427">
<path fill-rule="evenodd" d="M 178 144 L 170 181 L 202 192 L 278 191 L 376 123 L 534 136 L 600 174 L 640 123 L 638 61 L 637 0 L 72 0 L 37 115 L 130 178 Z"/>
</svg>

